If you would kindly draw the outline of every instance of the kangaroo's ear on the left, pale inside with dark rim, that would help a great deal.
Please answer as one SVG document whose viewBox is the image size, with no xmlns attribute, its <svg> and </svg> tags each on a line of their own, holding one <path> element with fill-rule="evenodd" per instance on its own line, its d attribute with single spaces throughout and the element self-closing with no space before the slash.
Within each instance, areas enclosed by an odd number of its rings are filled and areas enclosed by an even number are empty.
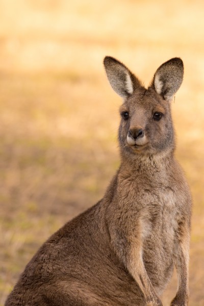
<svg viewBox="0 0 204 306">
<path fill-rule="evenodd" d="M 121 97 L 130 96 L 137 87 L 141 86 L 135 75 L 116 59 L 106 56 L 104 66 L 113 90 Z"/>
</svg>

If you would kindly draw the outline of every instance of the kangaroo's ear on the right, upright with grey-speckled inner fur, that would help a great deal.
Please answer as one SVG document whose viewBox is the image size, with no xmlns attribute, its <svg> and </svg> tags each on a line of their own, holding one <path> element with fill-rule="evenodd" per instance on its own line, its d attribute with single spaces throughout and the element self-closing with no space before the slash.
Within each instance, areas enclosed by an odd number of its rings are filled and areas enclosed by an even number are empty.
<svg viewBox="0 0 204 306">
<path fill-rule="evenodd" d="M 180 88 L 184 75 L 184 64 L 180 58 L 173 58 L 162 64 L 156 71 L 151 83 L 158 94 L 167 101 L 171 100 Z"/>
</svg>

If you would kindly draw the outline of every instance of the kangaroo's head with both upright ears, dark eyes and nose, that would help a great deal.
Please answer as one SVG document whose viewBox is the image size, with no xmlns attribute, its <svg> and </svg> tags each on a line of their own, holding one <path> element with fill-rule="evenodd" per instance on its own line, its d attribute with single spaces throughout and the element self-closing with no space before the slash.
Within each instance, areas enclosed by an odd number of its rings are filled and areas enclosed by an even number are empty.
<svg viewBox="0 0 204 306">
<path fill-rule="evenodd" d="M 174 148 L 170 101 L 183 81 L 184 66 L 173 58 L 156 71 L 148 89 L 121 62 L 105 57 L 108 80 L 123 98 L 119 143 L 122 152 L 158 154 Z"/>
</svg>

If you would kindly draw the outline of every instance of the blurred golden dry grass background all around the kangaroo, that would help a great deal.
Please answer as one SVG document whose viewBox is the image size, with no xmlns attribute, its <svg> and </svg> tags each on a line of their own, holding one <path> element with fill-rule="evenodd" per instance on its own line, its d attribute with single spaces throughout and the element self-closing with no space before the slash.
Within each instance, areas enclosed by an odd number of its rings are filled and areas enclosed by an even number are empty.
<svg viewBox="0 0 204 306">
<path fill-rule="evenodd" d="M 172 102 L 194 208 L 190 302 L 204 305 L 203 1 L 0 0 L 0 305 L 38 247 L 100 199 L 119 165 L 118 108 L 103 58 L 145 85 L 185 64 Z M 163 296 L 169 305 L 176 276 Z"/>
</svg>

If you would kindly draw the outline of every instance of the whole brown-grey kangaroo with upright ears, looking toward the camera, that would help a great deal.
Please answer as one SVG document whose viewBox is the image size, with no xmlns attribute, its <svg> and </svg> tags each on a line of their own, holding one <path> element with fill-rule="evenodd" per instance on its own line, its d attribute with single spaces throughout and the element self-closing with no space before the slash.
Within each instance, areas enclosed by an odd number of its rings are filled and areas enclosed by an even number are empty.
<svg viewBox="0 0 204 306">
<path fill-rule="evenodd" d="M 174 266 L 171 306 L 188 305 L 191 194 L 174 159 L 170 105 L 183 62 L 162 64 L 147 89 L 118 60 L 104 65 L 123 98 L 120 167 L 104 198 L 40 247 L 6 306 L 162 306 Z"/>
</svg>

